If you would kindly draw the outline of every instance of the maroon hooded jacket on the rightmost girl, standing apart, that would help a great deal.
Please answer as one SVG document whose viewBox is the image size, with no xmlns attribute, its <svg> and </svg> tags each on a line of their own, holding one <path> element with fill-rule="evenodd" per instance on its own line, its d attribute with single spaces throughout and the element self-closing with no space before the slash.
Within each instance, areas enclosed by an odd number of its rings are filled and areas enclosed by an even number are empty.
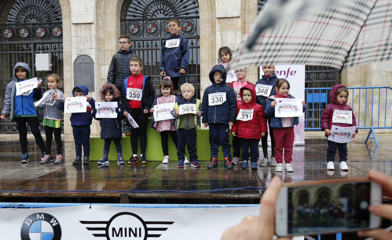
<svg viewBox="0 0 392 240">
<path fill-rule="evenodd" d="M 336 101 L 336 90 L 338 90 L 339 87 L 347 88 L 343 84 L 337 84 L 332 87 L 331 92 L 329 93 L 329 96 L 331 97 L 331 103 L 328 104 L 324 108 L 323 114 L 321 115 L 321 130 L 322 131 L 324 131 L 325 128 L 328 128 L 329 130 L 331 130 L 332 125 L 342 126 L 342 127 L 349 127 L 349 126 L 356 126 L 357 125 L 357 123 L 355 121 L 354 112 L 352 112 L 352 124 L 332 123 L 332 115 L 334 114 L 335 109 L 352 111 L 352 108 L 346 104 L 348 97 L 347 97 L 345 103 L 343 103 L 342 105 L 340 105 L 338 103 L 338 101 Z M 358 128 L 355 130 L 355 132 L 358 132 Z M 327 134 L 325 134 L 325 137 L 327 137 Z"/>
</svg>

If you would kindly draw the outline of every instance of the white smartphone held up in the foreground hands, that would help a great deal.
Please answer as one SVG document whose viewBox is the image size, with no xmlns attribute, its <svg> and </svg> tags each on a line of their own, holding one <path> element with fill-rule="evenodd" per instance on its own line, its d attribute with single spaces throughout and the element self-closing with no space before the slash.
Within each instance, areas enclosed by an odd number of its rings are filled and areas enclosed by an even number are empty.
<svg viewBox="0 0 392 240">
<path fill-rule="evenodd" d="M 276 202 L 275 233 L 296 236 L 377 228 L 381 217 L 368 207 L 381 202 L 381 186 L 367 178 L 283 184 Z"/>
</svg>

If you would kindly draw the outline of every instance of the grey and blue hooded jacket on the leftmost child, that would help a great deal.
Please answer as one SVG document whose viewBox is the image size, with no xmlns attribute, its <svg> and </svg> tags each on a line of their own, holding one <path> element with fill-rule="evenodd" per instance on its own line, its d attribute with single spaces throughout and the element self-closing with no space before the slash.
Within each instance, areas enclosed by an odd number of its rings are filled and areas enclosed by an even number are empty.
<svg viewBox="0 0 392 240">
<path fill-rule="evenodd" d="M 29 65 L 26 63 L 18 62 L 14 66 L 12 81 L 7 84 L 5 88 L 5 97 L 4 97 L 4 107 L 1 114 L 7 115 L 5 118 L 6 121 L 11 121 L 15 115 L 36 115 L 36 108 L 34 108 L 34 99 L 41 99 L 41 90 L 38 88 L 34 88 L 33 91 L 28 96 L 16 96 L 16 87 L 15 84 L 19 80 L 16 77 L 15 69 L 16 67 L 23 67 L 27 70 L 27 79 L 31 78 L 31 70 Z M 27 80 L 26 79 L 26 80 Z"/>
</svg>

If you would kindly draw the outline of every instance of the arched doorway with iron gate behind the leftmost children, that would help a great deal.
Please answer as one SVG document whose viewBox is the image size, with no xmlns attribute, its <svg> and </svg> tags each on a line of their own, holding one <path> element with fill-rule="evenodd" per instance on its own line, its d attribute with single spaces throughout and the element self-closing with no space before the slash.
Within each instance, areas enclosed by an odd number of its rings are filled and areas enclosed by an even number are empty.
<svg viewBox="0 0 392 240">
<path fill-rule="evenodd" d="M 62 12 L 58 0 L 8 0 L 0 2 L 0 106 L 17 62 L 29 65 L 34 77 L 63 76 Z M 36 72 L 36 53 L 51 53 L 52 72 Z M 62 88 L 62 85 L 60 85 Z M 42 92 L 47 90 L 43 82 Z M 0 132 L 18 132 L 15 123 L 0 121 Z"/>
</svg>

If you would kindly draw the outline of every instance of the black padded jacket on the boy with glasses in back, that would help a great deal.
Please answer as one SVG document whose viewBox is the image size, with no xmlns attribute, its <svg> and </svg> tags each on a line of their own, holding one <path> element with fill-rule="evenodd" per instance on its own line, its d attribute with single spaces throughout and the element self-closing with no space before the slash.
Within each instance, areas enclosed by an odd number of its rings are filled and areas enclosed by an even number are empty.
<svg viewBox="0 0 392 240">
<path fill-rule="evenodd" d="M 136 54 L 133 53 L 132 49 L 128 49 L 127 51 L 120 49 L 113 55 L 109 70 L 107 71 L 106 85 L 111 83 L 116 85 L 118 90 L 122 90 L 122 80 L 132 74 L 129 68 L 129 60 L 133 57 L 136 57 Z"/>
</svg>

